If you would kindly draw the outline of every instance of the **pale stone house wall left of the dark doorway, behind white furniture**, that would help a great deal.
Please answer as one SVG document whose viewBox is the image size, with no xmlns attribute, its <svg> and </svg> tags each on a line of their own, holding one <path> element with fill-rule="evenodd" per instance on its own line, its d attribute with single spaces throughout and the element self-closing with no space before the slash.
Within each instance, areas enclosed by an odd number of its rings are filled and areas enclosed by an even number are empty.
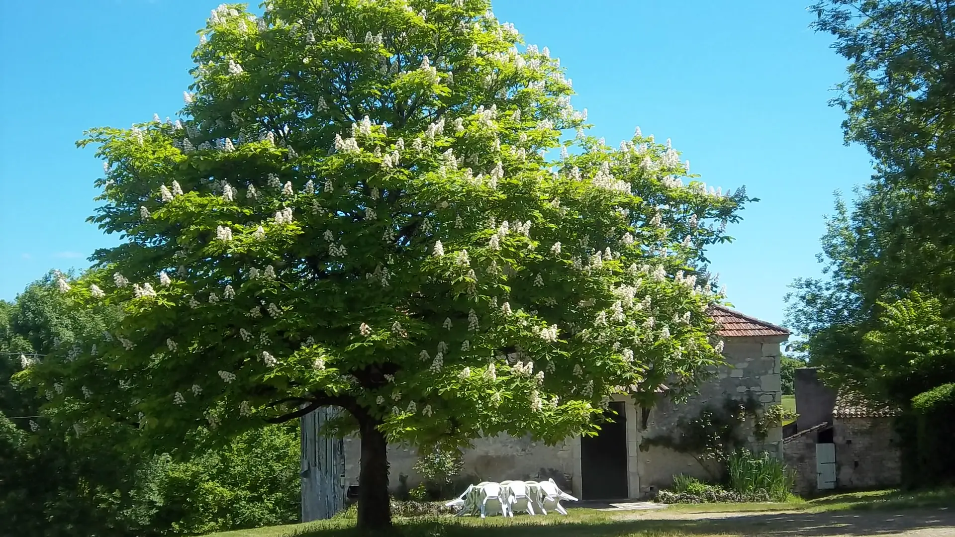
<svg viewBox="0 0 955 537">
<path fill-rule="evenodd" d="M 358 484 L 361 462 L 361 440 L 345 439 L 345 475 L 349 484 Z M 474 448 L 464 453 L 461 476 L 479 481 L 546 480 L 553 478 L 564 490 L 572 489 L 575 474 L 573 440 L 549 446 L 530 437 L 514 438 L 499 435 L 474 440 Z M 422 476 L 414 471 L 417 462 L 414 447 L 392 444 L 388 446 L 389 487 L 400 485 L 400 476 L 408 476 L 408 486 L 421 483 Z"/>
</svg>

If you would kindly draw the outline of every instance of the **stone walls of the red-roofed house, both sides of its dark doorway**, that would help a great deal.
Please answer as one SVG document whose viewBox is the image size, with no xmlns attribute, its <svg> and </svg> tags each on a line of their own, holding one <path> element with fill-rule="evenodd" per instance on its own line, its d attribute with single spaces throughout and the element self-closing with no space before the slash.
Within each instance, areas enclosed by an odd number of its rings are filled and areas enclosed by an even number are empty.
<svg viewBox="0 0 955 537">
<path fill-rule="evenodd" d="M 782 337 L 732 337 L 726 340 L 723 354 L 729 365 L 714 370 L 715 378 L 700 387 L 699 395 L 687 403 L 675 405 L 660 401 L 649 413 L 647 428 L 643 428 L 641 412 L 632 400 L 626 400 L 627 474 L 631 497 L 651 495 L 651 488 L 666 488 L 673 475 L 679 473 L 710 480 L 719 468 L 705 468 L 693 457 L 665 447 L 654 446 L 639 451 L 640 440 L 672 432 L 680 418 L 693 419 L 707 404 L 722 407 L 726 397 L 746 399 L 753 397 L 764 406 L 778 404 L 782 397 L 779 377 L 779 343 Z M 624 400 L 615 397 L 617 400 Z M 750 424 L 752 430 L 752 423 Z M 768 450 L 782 457 L 782 429 L 774 428 L 765 440 L 749 435 L 753 451 Z M 349 484 L 358 483 L 360 440 L 345 440 L 345 473 Z M 412 468 L 417 461 L 414 448 L 389 446 L 391 463 L 390 485 L 398 486 L 399 476 L 408 476 L 409 486 L 421 481 Z M 708 471 L 709 470 L 709 471 Z M 465 476 L 500 481 L 505 479 L 547 479 L 561 484 L 580 497 L 580 439 L 567 439 L 557 446 L 547 446 L 529 438 L 516 439 L 507 435 L 477 439 L 474 449 L 464 454 Z"/>
</svg>

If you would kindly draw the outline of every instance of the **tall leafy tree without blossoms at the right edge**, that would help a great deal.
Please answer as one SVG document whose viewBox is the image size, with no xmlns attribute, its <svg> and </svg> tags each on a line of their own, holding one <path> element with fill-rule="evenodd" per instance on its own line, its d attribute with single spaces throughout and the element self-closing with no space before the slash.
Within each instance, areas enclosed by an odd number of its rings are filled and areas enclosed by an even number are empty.
<svg viewBox="0 0 955 537">
<path fill-rule="evenodd" d="M 790 316 L 829 380 L 908 407 L 955 380 L 955 6 L 830 0 L 814 27 L 849 60 L 833 103 L 872 180 L 839 199 L 821 279 L 796 281 Z"/>
</svg>

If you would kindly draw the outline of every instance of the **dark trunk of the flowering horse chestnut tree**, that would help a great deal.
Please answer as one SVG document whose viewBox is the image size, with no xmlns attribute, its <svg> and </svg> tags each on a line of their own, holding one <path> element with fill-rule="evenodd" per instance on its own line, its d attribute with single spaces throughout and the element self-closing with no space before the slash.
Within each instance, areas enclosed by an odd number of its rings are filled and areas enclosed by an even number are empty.
<svg viewBox="0 0 955 537">
<path fill-rule="evenodd" d="M 361 426 L 361 470 L 358 474 L 358 527 L 380 529 L 392 526 L 388 498 L 388 440 L 377 429 L 376 419 Z"/>
</svg>

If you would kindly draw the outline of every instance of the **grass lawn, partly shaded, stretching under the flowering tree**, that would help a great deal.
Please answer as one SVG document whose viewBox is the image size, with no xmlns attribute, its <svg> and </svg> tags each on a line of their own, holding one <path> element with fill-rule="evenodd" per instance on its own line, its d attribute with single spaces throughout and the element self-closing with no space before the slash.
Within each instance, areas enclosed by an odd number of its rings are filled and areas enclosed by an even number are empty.
<svg viewBox="0 0 955 537">
<path fill-rule="evenodd" d="M 832 494 L 815 500 L 768 504 L 670 505 L 646 511 L 601 511 L 571 508 L 570 515 L 491 517 L 431 517 L 396 519 L 389 537 L 731 537 L 755 535 L 838 535 L 839 532 L 801 533 L 798 526 L 834 530 L 851 518 L 862 534 L 881 532 L 886 519 L 903 516 L 906 509 L 955 506 L 955 488 L 917 493 L 896 490 Z M 855 513 L 849 513 L 855 511 Z M 943 511 L 945 512 L 945 511 Z M 720 515 L 726 514 L 726 516 Z M 784 514 L 781 514 L 784 513 Z M 745 516 L 744 516 L 745 515 Z M 781 516 L 780 516 L 781 515 Z M 934 516 L 934 515 L 933 515 Z M 913 515 L 915 518 L 915 515 Z M 936 517 L 937 518 L 937 517 Z M 924 519 L 919 521 L 923 524 Z M 913 521 L 914 522 L 914 521 Z M 938 524 L 938 521 L 935 521 Z M 865 526 L 865 525 L 869 526 Z M 955 522 L 953 522 L 955 524 Z M 944 526 L 948 528 L 949 526 Z M 955 527 L 955 526 L 952 526 Z M 942 533 L 939 533 L 940 535 Z M 215 533 L 208 537 L 357 537 L 354 519 L 336 518 L 293 526 L 273 526 Z"/>
</svg>

